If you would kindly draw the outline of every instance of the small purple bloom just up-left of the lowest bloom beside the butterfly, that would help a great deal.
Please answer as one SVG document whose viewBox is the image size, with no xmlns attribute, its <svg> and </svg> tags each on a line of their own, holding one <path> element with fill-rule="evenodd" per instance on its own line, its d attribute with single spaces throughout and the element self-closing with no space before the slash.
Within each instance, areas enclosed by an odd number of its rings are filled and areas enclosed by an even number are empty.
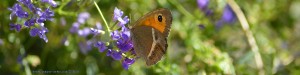
<svg viewBox="0 0 300 75">
<path fill-rule="evenodd" d="M 115 50 L 108 49 L 108 52 L 107 52 L 106 55 L 111 56 L 114 60 L 121 60 L 122 59 L 122 53 L 117 52 Z"/>
</svg>

